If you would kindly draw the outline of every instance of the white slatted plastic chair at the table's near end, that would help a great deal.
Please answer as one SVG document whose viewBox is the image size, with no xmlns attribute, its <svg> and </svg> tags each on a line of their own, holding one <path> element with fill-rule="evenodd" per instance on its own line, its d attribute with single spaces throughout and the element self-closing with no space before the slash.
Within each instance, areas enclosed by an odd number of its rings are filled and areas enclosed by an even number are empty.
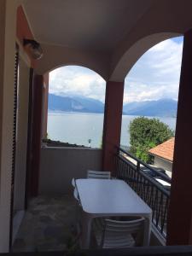
<svg viewBox="0 0 192 256">
<path fill-rule="evenodd" d="M 113 220 L 96 218 L 93 232 L 100 248 L 143 246 L 144 218 Z"/>
</svg>

